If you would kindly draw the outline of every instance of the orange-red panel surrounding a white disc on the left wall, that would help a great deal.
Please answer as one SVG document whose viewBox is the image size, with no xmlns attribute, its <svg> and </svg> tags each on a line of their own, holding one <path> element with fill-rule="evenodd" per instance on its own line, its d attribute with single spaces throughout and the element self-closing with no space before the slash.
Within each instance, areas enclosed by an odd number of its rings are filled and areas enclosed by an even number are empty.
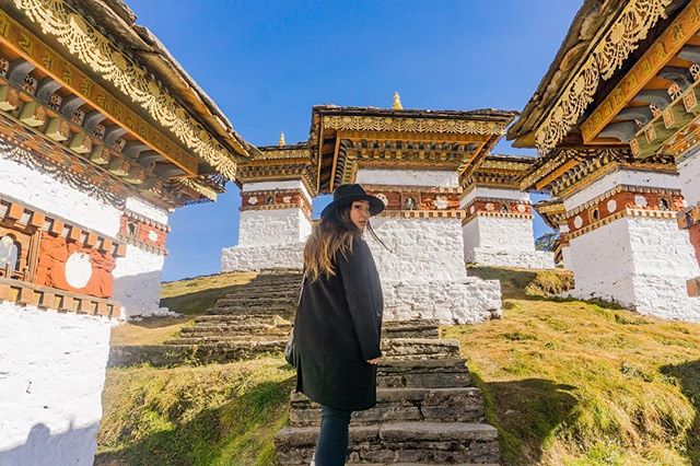
<svg viewBox="0 0 700 466">
<path fill-rule="evenodd" d="M 92 276 L 84 288 L 73 288 L 66 280 L 66 261 L 73 253 L 82 253 L 90 257 Z M 100 253 L 93 248 L 82 247 L 65 237 L 42 233 L 36 284 L 56 288 L 73 293 L 96 298 L 110 298 L 114 278 L 112 271 L 115 259 L 112 254 Z"/>
</svg>

